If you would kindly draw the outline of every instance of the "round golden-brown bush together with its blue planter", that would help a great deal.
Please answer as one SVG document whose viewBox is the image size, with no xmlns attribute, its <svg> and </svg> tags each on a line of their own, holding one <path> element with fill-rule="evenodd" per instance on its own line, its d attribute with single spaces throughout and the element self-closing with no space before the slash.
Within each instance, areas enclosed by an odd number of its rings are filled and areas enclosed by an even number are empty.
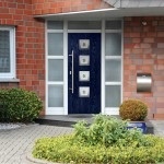
<svg viewBox="0 0 164 164">
<path fill-rule="evenodd" d="M 140 99 L 124 101 L 119 107 L 119 116 L 128 120 L 128 129 L 139 128 L 143 133 L 147 132 L 145 117 L 148 106 Z"/>
</svg>

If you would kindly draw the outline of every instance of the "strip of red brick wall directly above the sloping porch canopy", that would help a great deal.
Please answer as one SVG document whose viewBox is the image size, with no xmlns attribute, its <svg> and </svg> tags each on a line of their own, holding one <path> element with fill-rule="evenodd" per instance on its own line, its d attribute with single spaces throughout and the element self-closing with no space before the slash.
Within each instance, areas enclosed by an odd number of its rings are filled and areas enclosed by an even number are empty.
<svg viewBox="0 0 164 164">
<path fill-rule="evenodd" d="M 33 14 L 54 14 L 109 8 L 102 0 L 32 0 Z"/>
</svg>

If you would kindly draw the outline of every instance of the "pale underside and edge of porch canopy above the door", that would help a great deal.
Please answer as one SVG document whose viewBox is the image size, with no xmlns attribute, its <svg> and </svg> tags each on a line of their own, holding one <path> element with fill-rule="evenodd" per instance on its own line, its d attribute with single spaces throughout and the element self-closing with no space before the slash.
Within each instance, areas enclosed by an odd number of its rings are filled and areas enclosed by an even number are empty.
<svg viewBox="0 0 164 164">
<path fill-rule="evenodd" d="M 92 11 L 69 12 L 58 14 L 36 15 L 35 17 L 56 20 L 101 20 L 124 16 L 153 16 L 164 15 L 164 7 L 150 8 L 110 8 Z"/>
</svg>

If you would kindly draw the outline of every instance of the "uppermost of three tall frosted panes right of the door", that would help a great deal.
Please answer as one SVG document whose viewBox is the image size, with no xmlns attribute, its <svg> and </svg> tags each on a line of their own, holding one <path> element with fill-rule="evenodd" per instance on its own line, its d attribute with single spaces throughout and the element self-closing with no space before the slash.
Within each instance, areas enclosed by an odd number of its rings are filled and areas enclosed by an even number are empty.
<svg viewBox="0 0 164 164">
<path fill-rule="evenodd" d="M 121 55 L 121 34 L 107 33 L 105 35 L 105 54 L 106 56 Z"/>
</svg>

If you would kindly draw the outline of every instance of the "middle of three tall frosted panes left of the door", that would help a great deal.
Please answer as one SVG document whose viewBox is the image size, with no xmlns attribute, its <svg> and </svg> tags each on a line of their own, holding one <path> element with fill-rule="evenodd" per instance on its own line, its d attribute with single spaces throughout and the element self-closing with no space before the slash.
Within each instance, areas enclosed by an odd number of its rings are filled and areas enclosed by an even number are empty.
<svg viewBox="0 0 164 164">
<path fill-rule="evenodd" d="M 48 81 L 63 81 L 62 59 L 48 59 Z"/>
</svg>

